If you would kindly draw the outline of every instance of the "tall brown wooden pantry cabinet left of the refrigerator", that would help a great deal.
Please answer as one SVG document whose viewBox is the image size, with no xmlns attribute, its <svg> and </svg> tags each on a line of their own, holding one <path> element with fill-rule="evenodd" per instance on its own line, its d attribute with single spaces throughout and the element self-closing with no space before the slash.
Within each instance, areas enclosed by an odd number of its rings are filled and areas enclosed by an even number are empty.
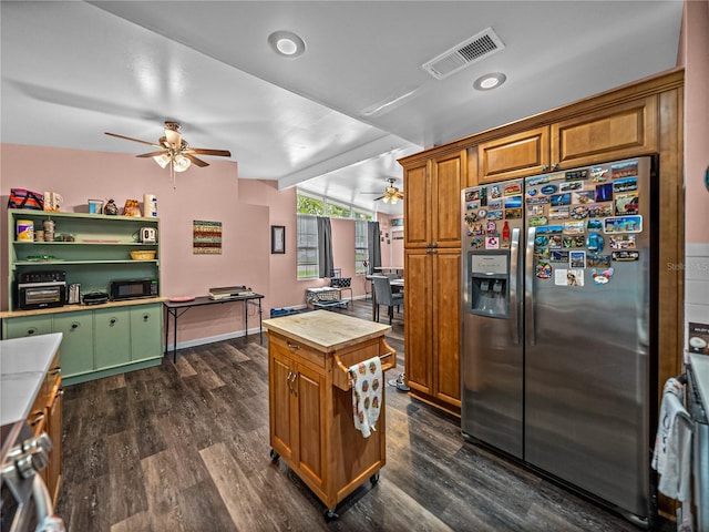
<svg viewBox="0 0 709 532">
<path fill-rule="evenodd" d="M 460 198 L 467 152 L 402 164 L 405 378 L 412 396 L 460 415 Z"/>
</svg>

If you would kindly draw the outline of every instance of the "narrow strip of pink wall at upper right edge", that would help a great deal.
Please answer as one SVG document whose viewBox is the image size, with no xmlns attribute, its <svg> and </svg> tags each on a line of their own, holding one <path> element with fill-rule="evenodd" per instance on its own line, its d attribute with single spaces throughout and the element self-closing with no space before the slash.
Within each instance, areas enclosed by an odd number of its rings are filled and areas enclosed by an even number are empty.
<svg viewBox="0 0 709 532">
<path fill-rule="evenodd" d="M 709 0 L 685 1 L 680 63 L 685 66 L 685 239 L 708 244 Z"/>
</svg>

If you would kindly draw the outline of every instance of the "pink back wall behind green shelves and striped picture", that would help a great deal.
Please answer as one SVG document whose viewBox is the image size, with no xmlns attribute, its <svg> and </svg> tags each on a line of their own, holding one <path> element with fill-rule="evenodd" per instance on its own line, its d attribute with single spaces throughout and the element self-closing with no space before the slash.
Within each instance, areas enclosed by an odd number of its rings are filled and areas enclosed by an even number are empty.
<svg viewBox="0 0 709 532">
<path fill-rule="evenodd" d="M 264 294 L 270 308 L 305 304 L 305 290 L 327 279 L 296 280 L 296 190 L 278 191 L 275 181 L 239 180 L 237 164 L 210 160 L 209 166 L 177 174 L 129 154 L 2 144 L 0 150 L 0 260 L 8 278 L 7 198 L 12 187 L 60 193 L 64 212 L 86 212 L 89 198 L 157 196 L 161 218 L 161 291 L 163 296 L 203 295 L 213 286 L 244 284 Z M 195 219 L 222 222 L 220 255 L 192 253 Z M 270 226 L 286 227 L 286 253 L 270 254 Z M 354 223 L 332 219 L 336 266 L 352 277 L 353 295 L 364 294 L 354 275 Z M 383 249 L 382 249 L 383 252 Z M 8 309 L 7 282 L 0 284 L 0 309 Z M 257 324 L 249 310 L 249 328 Z M 251 321 L 251 319 L 254 319 Z M 179 320 L 179 342 L 228 335 L 243 329 L 240 304 L 191 309 Z"/>
</svg>

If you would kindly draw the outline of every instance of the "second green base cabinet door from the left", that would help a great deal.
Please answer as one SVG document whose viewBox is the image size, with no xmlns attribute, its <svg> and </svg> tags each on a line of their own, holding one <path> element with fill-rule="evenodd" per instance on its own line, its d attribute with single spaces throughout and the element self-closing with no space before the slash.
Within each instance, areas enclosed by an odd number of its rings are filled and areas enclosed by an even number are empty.
<svg viewBox="0 0 709 532">
<path fill-rule="evenodd" d="M 63 334 L 59 351 L 62 376 L 66 378 L 93 371 L 93 313 L 56 314 L 53 330 Z"/>
</svg>

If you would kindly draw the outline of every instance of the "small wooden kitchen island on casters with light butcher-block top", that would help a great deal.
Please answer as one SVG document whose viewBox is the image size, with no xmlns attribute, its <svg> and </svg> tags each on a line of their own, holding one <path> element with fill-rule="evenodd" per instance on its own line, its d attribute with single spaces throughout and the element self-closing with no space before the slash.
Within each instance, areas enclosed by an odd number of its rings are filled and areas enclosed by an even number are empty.
<svg viewBox="0 0 709 532">
<path fill-rule="evenodd" d="M 354 428 L 348 368 L 380 357 L 382 371 L 397 354 L 391 327 L 316 310 L 264 320 L 268 330 L 271 458 L 281 458 L 327 507 L 326 519 L 387 462 L 384 397 L 377 430 Z"/>
</svg>

